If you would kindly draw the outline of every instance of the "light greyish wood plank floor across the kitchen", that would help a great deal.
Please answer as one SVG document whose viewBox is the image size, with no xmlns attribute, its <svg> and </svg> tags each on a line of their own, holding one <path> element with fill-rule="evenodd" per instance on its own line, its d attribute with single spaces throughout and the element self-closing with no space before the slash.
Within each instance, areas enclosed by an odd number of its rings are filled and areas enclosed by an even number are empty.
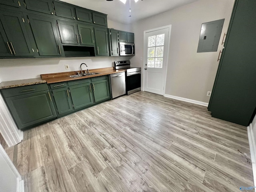
<svg viewBox="0 0 256 192">
<path fill-rule="evenodd" d="M 5 146 L 25 192 L 235 192 L 254 186 L 247 130 L 207 108 L 137 92 Z M 239 151 L 238 151 L 239 150 Z"/>
</svg>

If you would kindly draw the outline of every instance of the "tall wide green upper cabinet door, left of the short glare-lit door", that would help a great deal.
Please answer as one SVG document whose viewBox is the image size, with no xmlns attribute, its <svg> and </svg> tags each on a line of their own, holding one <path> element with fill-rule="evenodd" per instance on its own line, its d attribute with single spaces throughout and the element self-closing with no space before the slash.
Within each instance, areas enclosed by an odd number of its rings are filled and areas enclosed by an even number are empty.
<svg viewBox="0 0 256 192">
<path fill-rule="evenodd" d="M 53 18 L 29 15 L 30 25 L 40 56 L 61 56 L 57 21 Z"/>
</svg>

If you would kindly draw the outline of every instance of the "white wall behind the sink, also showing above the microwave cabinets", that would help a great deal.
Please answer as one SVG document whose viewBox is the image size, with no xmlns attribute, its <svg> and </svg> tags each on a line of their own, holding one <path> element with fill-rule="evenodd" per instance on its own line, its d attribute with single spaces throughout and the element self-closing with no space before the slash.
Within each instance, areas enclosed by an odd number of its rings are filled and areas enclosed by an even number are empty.
<svg viewBox="0 0 256 192">
<path fill-rule="evenodd" d="M 108 20 L 108 28 L 129 31 L 130 26 Z M 72 58 L 20 58 L 0 59 L 0 79 L 2 81 L 40 77 L 40 74 L 80 70 L 80 64 L 86 63 L 88 69 L 114 66 L 116 60 L 129 60 L 131 57 L 72 57 Z M 65 69 L 68 64 L 70 69 Z M 85 70 L 86 68 L 82 68 Z"/>
</svg>

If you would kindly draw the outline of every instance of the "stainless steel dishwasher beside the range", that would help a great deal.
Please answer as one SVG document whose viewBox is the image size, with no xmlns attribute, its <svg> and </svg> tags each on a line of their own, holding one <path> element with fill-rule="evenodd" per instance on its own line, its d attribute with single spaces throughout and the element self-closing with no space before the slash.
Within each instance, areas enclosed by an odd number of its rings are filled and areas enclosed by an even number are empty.
<svg viewBox="0 0 256 192">
<path fill-rule="evenodd" d="M 110 75 L 112 99 L 126 94 L 125 72 Z"/>
</svg>

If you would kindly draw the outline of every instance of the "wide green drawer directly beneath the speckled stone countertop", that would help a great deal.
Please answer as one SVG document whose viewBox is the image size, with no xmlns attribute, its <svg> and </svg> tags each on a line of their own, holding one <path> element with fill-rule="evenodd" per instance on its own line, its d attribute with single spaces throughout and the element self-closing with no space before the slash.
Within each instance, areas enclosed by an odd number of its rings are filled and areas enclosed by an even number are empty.
<svg viewBox="0 0 256 192">
<path fill-rule="evenodd" d="M 6 97 L 24 95 L 24 94 L 45 91 L 45 90 L 48 90 L 48 86 L 46 83 L 42 83 L 42 84 L 2 89 L 1 92 L 2 92 L 2 95 L 6 98 Z"/>
</svg>

